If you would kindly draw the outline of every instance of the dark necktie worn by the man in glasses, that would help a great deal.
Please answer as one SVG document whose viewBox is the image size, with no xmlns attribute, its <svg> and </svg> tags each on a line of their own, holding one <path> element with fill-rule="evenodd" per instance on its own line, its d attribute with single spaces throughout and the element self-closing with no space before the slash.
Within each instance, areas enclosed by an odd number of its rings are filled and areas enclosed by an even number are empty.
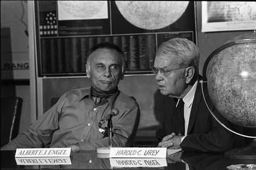
<svg viewBox="0 0 256 170">
<path fill-rule="evenodd" d="M 184 135 L 185 134 L 184 101 L 182 99 L 180 99 L 180 101 L 177 105 L 176 117 L 177 117 L 177 120 L 176 120 L 177 121 L 176 122 L 177 123 L 176 124 L 177 134 L 178 135 Z"/>
</svg>

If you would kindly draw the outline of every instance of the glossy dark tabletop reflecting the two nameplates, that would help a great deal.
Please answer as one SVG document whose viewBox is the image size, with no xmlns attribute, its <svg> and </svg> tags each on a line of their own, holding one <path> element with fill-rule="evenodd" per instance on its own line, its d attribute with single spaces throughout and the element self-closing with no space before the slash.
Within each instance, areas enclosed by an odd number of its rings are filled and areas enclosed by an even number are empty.
<svg viewBox="0 0 256 170">
<path fill-rule="evenodd" d="M 230 165 L 237 164 L 256 164 L 256 160 L 240 160 L 225 158 L 224 154 L 209 154 L 209 153 L 191 153 L 180 152 L 175 155 L 163 158 L 166 166 L 152 167 L 153 164 L 159 165 L 157 159 L 150 160 L 137 158 L 129 159 L 122 158 L 120 160 L 113 158 L 104 158 L 106 155 L 97 154 L 96 151 L 81 151 L 79 153 L 71 153 L 68 157 L 71 164 L 42 164 L 38 163 L 38 158 L 26 158 L 26 163 L 29 165 L 17 165 L 15 159 L 15 151 L 1 151 L 1 169 L 172 169 L 181 170 L 189 167 L 192 169 L 228 169 Z M 20 158 L 19 158 L 20 159 Z M 24 159 L 24 158 L 23 158 Z M 43 158 L 41 158 L 42 160 Z M 53 160 L 53 158 L 50 158 Z M 119 163 L 119 167 L 113 167 L 113 160 Z M 57 159 L 61 162 L 61 159 Z M 139 167 L 140 162 L 145 162 L 148 167 Z M 130 165 L 129 165 L 130 164 Z M 132 167 L 132 165 L 136 165 Z M 188 169 L 188 168 L 187 168 Z"/>
</svg>

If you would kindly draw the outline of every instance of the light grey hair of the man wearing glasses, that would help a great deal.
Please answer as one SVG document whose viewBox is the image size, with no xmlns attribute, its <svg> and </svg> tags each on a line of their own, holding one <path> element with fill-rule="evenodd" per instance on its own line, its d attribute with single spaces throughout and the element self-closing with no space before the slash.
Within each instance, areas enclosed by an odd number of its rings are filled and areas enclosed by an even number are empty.
<svg viewBox="0 0 256 170">
<path fill-rule="evenodd" d="M 175 38 L 163 42 L 156 52 L 156 56 L 172 58 L 179 67 L 195 67 L 196 75 L 199 75 L 200 52 L 199 48 L 190 40 L 183 38 Z"/>
</svg>

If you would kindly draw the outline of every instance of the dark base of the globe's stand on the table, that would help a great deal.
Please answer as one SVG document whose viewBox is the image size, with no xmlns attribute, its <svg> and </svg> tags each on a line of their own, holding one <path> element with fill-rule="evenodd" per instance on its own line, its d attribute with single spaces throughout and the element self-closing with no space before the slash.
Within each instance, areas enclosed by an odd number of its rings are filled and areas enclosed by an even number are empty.
<svg viewBox="0 0 256 170">
<path fill-rule="evenodd" d="M 224 156 L 230 159 L 256 160 L 256 139 L 249 146 L 226 151 Z"/>
</svg>

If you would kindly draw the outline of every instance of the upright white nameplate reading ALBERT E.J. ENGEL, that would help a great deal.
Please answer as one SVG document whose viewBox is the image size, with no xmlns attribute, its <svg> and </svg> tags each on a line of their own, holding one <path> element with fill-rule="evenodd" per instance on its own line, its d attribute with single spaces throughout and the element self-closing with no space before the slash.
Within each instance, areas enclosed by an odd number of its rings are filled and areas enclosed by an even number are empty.
<svg viewBox="0 0 256 170">
<path fill-rule="evenodd" d="M 17 148 L 15 157 L 67 157 L 71 148 Z"/>
</svg>

